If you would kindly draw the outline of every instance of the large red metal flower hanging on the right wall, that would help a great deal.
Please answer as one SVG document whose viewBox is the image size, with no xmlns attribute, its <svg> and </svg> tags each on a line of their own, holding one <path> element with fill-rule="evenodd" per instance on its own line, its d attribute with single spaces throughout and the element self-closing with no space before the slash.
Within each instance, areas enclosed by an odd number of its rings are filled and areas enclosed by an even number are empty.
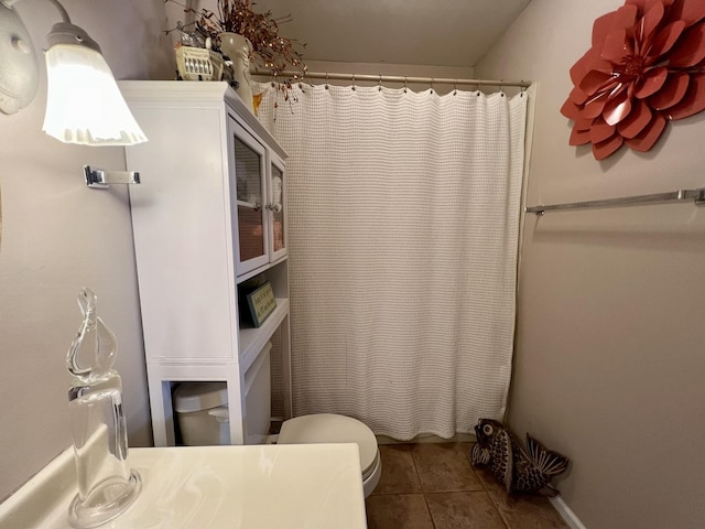
<svg viewBox="0 0 705 529">
<path fill-rule="evenodd" d="M 627 0 L 595 21 L 571 79 L 571 145 L 592 143 L 597 160 L 648 151 L 669 120 L 705 109 L 705 0 Z"/>
</svg>

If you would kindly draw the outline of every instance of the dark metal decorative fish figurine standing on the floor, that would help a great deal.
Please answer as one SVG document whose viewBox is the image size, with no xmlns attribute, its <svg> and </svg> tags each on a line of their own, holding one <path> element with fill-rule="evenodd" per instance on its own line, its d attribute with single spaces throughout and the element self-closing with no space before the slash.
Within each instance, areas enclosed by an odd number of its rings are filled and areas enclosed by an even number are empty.
<svg viewBox="0 0 705 529">
<path fill-rule="evenodd" d="M 567 457 L 547 450 L 529 434 L 524 450 L 501 422 L 492 419 L 480 419 L 475 434 L 473 466 L 487 466 L 507 493 L 558 494 L 549 482 L 567 469 Z"/>
</svg>

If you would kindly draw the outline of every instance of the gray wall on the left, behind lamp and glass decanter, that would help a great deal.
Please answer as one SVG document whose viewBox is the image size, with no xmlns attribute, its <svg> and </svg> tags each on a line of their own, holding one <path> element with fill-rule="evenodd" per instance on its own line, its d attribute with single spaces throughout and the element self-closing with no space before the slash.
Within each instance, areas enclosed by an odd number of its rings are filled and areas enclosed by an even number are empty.
<svg viewBox="0 0 705 529">
<path fill-rule="evenodd" d="M 161 0 L 66 0 L 117 78 L 169 78 Z M 37 50 L 61 19 L 45 1 L 17 6 Z M 43 57 L 40 55 L 43 63 Z M 124 169 L 122 148 L 63 144 L 42 132 L 45 68 L 34 101 L 0 115 L 0 500 L 72 444 L 66 350 L 90 287 L 117 334 L 130 444 L 150 445 L 144 352 L 127 191 L 88 190 L 82 166 Z"/>
</svg>

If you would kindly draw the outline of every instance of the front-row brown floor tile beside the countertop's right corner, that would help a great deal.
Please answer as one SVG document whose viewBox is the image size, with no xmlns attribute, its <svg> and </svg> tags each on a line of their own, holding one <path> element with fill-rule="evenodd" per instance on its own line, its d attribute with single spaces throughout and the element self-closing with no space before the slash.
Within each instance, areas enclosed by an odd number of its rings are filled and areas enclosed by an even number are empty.
<svg viewBox="0 0 705 529">
<path fill-rule="evenodd" d="M 379 494 L 365 501 L 368 529 L 434 529 L 423 494 Z"/>
</svg>

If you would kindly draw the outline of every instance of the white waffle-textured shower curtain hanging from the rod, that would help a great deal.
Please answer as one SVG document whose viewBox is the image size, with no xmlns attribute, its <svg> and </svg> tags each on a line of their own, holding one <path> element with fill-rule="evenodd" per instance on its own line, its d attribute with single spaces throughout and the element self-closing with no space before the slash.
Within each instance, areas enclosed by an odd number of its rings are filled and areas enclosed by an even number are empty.
<svg viewBox="0 0 705 529">
<path fill-rule="evenodd" d="M 290 155 L 294 414 L 398 440 L 502 419 L 527 95 L 259 90 Z"/>
</svg>

